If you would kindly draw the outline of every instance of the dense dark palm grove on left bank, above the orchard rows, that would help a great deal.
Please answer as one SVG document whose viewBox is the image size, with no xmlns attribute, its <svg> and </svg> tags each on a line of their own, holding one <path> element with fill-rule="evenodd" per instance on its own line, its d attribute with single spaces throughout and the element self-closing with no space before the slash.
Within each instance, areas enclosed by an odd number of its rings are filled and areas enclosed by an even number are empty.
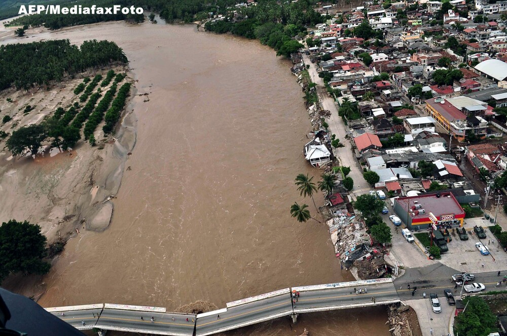
<svg viewBox="0 0 507 336">
<path fill-rule="evenodd" d="M 90 40 L 81 47 L 68 39 L 0 46 L 0 90 L 15 86 L 29 90 L 52 81 L 113 62 L 127 63 L 127 56 L 114 42 Z"/>
</svg>

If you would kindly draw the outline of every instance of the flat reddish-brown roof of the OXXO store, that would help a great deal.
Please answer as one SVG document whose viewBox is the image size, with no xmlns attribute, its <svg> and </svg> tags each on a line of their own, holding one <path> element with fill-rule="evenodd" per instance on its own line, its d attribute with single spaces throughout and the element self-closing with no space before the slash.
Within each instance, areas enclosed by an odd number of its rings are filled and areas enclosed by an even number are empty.
<svg viewBox="0 0 507 336">
<path fill-rule="evenodd" d="M 439 194 L 440 197 L 438 197 Z M 422 204 L 422 208 L 426 210 L 426 214 L 412 216 L 412 219 L 427 218 L 430 212 L 436 217 L 451 214 L 464 215 L 465 213 L 456 198 L 454 198 L 454 195 L 450 192 L 396 198 L 396 202 L 407 212 L 409 210 L 409 204 L 410 209 L 412 209 L 414 204 L 416 204 L 415 201 L 417 201 L 418 204 Z"/>
</svg>

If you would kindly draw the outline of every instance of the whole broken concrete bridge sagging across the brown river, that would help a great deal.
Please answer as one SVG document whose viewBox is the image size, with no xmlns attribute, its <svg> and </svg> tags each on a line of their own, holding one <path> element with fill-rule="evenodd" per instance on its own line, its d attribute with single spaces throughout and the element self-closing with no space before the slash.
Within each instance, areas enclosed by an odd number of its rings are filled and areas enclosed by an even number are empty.
<svg viewBox="0 0 507 336">
<path fill-rule="evenodd" d="M 366 289 L 366 293 L 356 294 L 354 288 Z M 292 291 L 300 292 L 296 302 L 292 298 Z M 102 332 L 119 330 L 172 336 L 205 336 L 282 316 L 292 316 L 293 321 L 297 322 L 298 314 L 301 313 L 399 302 L 400 298 L 391 279 L 374 279 L 284 288 L 230 302 L 226 308 L 203 314 L 171 313 L 160 307 L 115 304 L 46 310 L 80 330 L 97 328 Z"/>
</svg>

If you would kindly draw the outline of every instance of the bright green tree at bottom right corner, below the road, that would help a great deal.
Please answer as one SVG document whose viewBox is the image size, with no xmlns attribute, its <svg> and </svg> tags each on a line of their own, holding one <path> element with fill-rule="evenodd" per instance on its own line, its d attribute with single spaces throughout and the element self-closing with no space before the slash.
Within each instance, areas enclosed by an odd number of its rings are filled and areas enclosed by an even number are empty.
<svg viewBox="0 0 507 336">
<path fill-rule="evenodd" d="M 466 309 L 454 319 L 454 331 L 459 335 L 486 336 L 496 331 L 497 318 L 481 297 L 463 299 Z"/>
</svg>

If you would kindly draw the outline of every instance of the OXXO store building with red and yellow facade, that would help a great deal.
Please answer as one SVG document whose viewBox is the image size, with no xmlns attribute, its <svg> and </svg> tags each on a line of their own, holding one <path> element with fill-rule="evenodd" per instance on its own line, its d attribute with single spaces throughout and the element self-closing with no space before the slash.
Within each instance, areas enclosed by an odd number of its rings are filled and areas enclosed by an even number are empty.
<svg viewBox="0 0 507 336">
<path fill-rule="evenodd" d="M 451 192 L 400 197 L 394 212 L 409 229 L 427 229 L 435 224 L 440 228 L 463 226 L 465 212 Z"/>
</svg>

